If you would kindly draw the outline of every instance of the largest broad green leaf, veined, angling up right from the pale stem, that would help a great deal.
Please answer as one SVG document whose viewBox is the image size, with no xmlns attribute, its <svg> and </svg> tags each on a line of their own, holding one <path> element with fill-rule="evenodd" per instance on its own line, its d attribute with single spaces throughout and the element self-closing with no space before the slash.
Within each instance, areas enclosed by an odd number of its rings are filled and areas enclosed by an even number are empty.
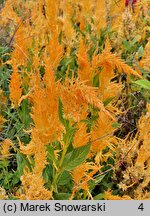
<svg viewBox="0 0 150 216">
<path fill-rule="evenodd" d="M 80 164 L 82 164 L 90 151 L 91 144 L 87 144 L 86 146 L 82 146 L 80 148 L 76 148 L 73 151 L 66 154 L 64 159 L 63 168 L 65 170 L 73 170 Z"/>
</svg>

